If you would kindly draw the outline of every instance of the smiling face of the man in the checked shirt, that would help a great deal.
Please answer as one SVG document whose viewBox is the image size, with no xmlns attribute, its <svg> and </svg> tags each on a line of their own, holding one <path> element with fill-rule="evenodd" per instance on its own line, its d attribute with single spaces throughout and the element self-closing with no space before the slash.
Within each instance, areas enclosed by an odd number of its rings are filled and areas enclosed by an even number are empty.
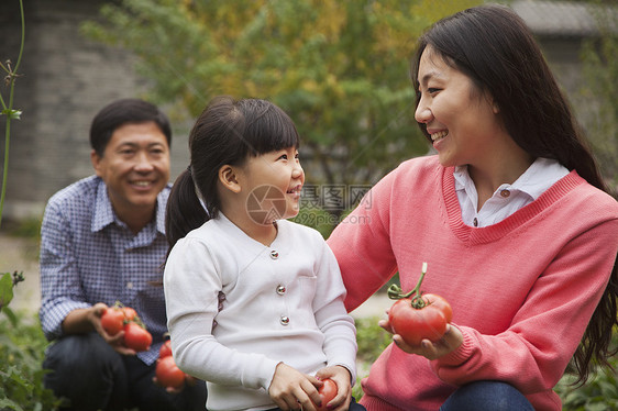
<svg viewBox="0 0 618 411">
<path fill-rule="evenodd" d="M 169 180 L 169 146 L 154 122 L 129 123 L 112 134 L 103 156 L 91 153 L 97 176 L 108 186 L 117 215 L 129 223 L 135 213 L 154 212 L 156 197 Z M 143 214 L 142 214 L 143 215 Z"/>
</svg>

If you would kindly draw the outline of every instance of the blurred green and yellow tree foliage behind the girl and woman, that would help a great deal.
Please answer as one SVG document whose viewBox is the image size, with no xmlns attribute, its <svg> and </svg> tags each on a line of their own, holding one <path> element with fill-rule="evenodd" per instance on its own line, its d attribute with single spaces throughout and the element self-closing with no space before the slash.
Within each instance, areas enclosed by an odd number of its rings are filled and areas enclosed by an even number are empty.
<svg viewBox="0 0 618 411">
<path fill-rule="evenodd" d="M 308 184 L 345 190 L 330 210 L 339 216 L 358 199 L 347 188 L 427 153 L 409 79 L 415 41 L 479 2 L 123 0 L 82 29 L 134 52 L 154 99 L 192 118 L 217 95 L 282 107 L 301 134 Z"/>
</svg>

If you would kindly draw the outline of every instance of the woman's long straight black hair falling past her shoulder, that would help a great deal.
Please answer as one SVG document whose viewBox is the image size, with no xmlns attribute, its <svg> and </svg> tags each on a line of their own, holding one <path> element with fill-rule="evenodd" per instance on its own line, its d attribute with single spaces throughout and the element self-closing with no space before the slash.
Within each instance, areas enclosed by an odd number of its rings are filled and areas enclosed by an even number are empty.
<svg viewBox="0 0 618 411">
<path fill-rule="evenodd" d="M 609 193 L 566 98 L 532 33 L 516 12 L 506 5 L 484 4 L 437 22 L 420 37 L 412 59 L 415 90 L 419 89 L 420 58 L 428 46 L 444 63 L 468 76 L 478 90 L 493 97 L 507 132 L 528 154 L 556 159 Z M 419 126 L 429 138 L 426 125 Z M 586 381 L 595 362 L 608 365 L 607 358 L 617 352 L 610 347 L 611 331 L 618 324 L 617 297 L 615 263 L 609 284 L 573 356 L 578 382 Z"/>
</svg>

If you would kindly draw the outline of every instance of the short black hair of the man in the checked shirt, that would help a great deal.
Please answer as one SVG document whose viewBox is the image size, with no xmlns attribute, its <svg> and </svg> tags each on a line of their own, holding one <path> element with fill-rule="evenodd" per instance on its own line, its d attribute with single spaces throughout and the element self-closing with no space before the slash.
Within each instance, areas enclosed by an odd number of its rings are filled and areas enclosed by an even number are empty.
<svg viewBox="0 0 618 411">
<path fill-rule="evenodd" d="M 172 147 L 169 120 L 156 105 L 140 99 L 120 99 L 103 107 L 90 125 L 90 146 L 102 157 L 113 132 L 124 124 L 154 122 Z"/>
</svg>

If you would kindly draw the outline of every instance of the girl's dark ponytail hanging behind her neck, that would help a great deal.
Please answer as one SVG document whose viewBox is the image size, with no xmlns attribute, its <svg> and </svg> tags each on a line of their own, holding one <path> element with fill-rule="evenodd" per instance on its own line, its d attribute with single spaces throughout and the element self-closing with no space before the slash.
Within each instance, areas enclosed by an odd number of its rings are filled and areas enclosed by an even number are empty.
<svg viewBox="0 0 618 411">
<path fill-rule="evenodd" d="M 169 249 L 176 242 L 209 220 L 199 200 L 190 166 L 183 171 L 169 192 L 165 213 L 165 235 Z"/>
</svg>

